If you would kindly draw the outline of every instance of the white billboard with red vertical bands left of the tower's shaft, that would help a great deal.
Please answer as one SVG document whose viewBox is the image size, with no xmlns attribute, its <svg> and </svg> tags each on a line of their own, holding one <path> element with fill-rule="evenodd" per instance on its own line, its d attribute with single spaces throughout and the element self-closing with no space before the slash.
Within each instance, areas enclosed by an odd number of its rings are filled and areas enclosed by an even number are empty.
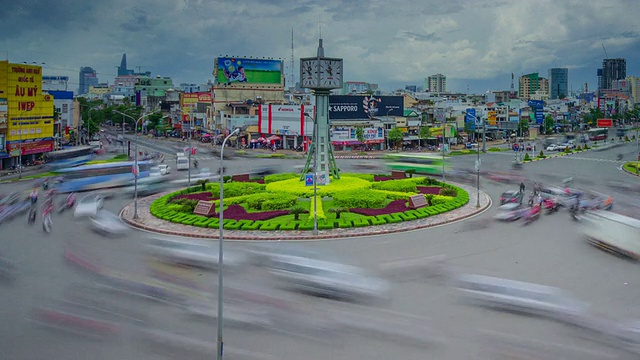
<svg viewBox="0 0 640 360">
<path fill-rule="evenodd" d="M 271 135 L 313 135 L 313 106 L 260 105 L 258 108 L 258 132 Z"/>
</svg>

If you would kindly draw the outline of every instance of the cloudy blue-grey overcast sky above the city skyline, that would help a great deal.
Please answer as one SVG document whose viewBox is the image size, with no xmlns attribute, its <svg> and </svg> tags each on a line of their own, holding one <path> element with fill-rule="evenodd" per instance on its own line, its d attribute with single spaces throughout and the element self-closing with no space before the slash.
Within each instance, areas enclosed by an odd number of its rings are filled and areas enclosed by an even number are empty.
<svg viewBox="0 0 640 360">
<path fill-rule="evenodd" d="M 113 84 L 128 67 L 175 83 L 212 79 L 217 56 L 282 58 L 291 79 L 299 58 L 342 57 L 345 80 L 383 91 L 422 85 L 433 74 L 447 90 L 506 90 L 511 74 L 569 68 L 569 88 L 597 87 L 605 57 L 627 59 L 640 76 L 639 0 L 3 0 L 0 51 L 11 62 L 45 63 L 45 75 L 91 66 Z"/>
</svg>

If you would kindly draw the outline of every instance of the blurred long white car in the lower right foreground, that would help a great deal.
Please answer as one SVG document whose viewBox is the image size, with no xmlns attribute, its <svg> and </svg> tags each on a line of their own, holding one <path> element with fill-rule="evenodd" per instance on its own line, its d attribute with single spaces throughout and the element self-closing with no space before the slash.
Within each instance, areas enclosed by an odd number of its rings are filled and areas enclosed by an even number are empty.
<svg viewBox="0 0 640 360">
<path fill-rule="evenodd" d="M 498 309 L 547 316 L 569 323 L 582 323 L 589 316 L 588 304 L 550 286 L 463 274 L 456 280 L 455 287 L 469 299 Z"/>
</svg>

